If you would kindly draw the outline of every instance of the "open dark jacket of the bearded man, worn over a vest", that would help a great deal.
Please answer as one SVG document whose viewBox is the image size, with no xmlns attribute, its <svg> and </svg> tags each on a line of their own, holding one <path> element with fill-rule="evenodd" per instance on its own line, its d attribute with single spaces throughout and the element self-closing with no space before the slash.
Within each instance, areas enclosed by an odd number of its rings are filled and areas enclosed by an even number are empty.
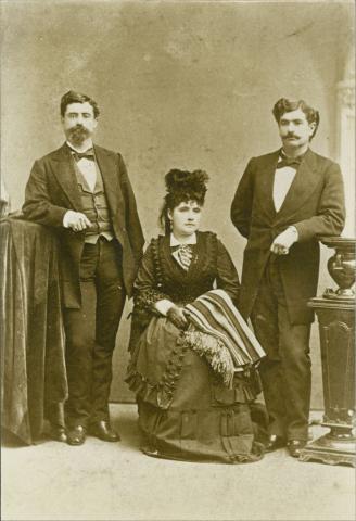
<svg viewBox="0 0 356 521">
<path fill-rule="evenodd" d="M 135 195 L 120 154 L 94 145 L 102 174 L 107 204 L 116 239 L 123 247 L 123 278 L 130 296 L 139 262 L 143 236 Z M 23 212 L 36 223 L 53 227 L 61 245 L 61 279 L 65 307 L 80 307 L 79 262 L 85 231 L 63 227 L 64 214 L 82 212 L 71 152 L 66 145 L 35 162 L 26 186 Z"/>
</svg>

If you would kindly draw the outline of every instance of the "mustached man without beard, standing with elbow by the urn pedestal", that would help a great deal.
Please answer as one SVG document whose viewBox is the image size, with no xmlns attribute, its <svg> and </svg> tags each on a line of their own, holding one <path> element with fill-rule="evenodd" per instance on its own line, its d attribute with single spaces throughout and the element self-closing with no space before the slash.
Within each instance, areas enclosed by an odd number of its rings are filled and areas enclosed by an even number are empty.
<svg viewBox="0 0 356 521">
<path fill-rule="evenodd" d="M 240 312 L 251 317 L 267 356 L 259 373 L 269 414 L 267 452 L 298 457 L 308 439 L 309 334 L 320 236 L 344 226 L 340 167 L 309 148 L 319 113 L 303 100 L 274 106 L 282 148 L 253 157 L 239 182 L 231 219 L 247 239 Z"/>
</svg>

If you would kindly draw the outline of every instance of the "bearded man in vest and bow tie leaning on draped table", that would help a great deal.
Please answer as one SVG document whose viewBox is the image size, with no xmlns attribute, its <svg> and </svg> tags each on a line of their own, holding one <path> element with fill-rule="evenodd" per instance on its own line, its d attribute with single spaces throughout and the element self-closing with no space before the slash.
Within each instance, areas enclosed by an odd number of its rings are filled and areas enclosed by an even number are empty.
<svg viewBox="0 0 356 521">
<path fill-rule="evenodd" d="M 98 116 L 88 96 L 63 96 L 66 141 L 35 162 L 23 206 L 60 240 L 68 399 L 67 432 L 59 428 L 56 437 L 71 445 L 81 445 L 87 431 L 119 440 L 107 406 L 112 356 L 144 242 L 122 155 L 92 143 Z"/>
</svg>

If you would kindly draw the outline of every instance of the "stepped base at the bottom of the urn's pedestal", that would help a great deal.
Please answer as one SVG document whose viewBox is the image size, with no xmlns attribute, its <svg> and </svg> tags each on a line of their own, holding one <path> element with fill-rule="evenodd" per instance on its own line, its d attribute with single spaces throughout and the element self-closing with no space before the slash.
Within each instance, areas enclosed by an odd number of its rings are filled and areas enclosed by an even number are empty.
<svg viewBox="0 0 356 521">
<path fill-rule="evenodd" d="M 300 461 L 322 461 L 327 465 L 356 467 L 356 439 L 338 439 L 331 433 L 308 443 L 301 452 Z"/>
</svg>

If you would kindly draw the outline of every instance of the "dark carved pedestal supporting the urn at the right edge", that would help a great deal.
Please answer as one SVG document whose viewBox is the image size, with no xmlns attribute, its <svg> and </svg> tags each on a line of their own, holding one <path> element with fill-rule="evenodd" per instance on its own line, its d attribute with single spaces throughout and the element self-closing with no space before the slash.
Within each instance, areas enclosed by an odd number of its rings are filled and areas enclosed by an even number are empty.
<svg viewBox="0 0 356 521">
<path fill-rule="evenodd" d="M 355 302 L 313 298 L 319 321 L 325 415 L 330 432 L 306 445 L 301 461 L 356 467 Z"/>
</svg>

